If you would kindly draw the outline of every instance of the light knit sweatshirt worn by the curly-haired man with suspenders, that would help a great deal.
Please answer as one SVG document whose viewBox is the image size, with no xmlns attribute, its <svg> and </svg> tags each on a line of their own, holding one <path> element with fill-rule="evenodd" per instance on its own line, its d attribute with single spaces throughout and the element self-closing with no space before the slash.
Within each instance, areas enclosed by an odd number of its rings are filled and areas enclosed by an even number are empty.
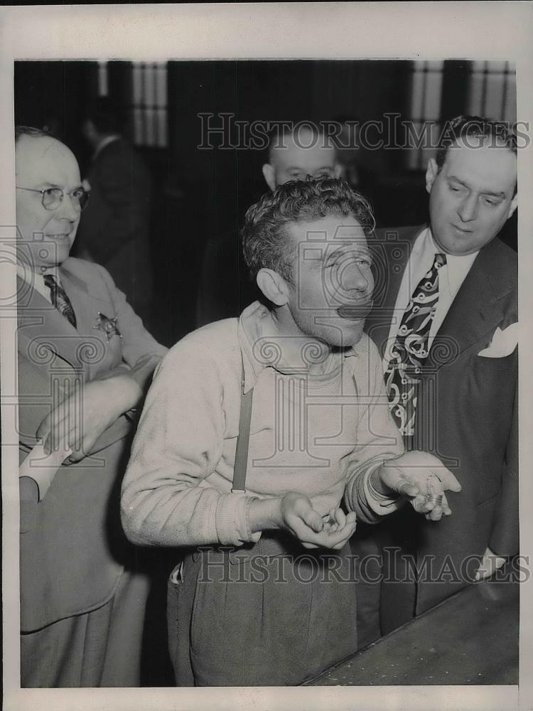
<svg viewBox="0 0 533 711">
<path fill-rule="evenodd" d="M 258 540 L 247 520 L 250 497 L 289 491 L 308 496 L 321 515 L 344 498 L 367 523 L 399 506 L 369 481 L 383 461 L 403 453 L 375 344 L 363 335 L 350 350 L 328 355 L 321 375 L 310 375 L 284 361 L 295 344 L 265 336 L 271 324 L 268 309 L 255 302 L 238 320 L 185 336 L 163 359 L 122 485 L 131 541 Z M 315 355 L 311 348 L 307 362 Z M 246 494 L 231 491 L 243 365 L 244 390 L 254 388 Z"/>
</svg>

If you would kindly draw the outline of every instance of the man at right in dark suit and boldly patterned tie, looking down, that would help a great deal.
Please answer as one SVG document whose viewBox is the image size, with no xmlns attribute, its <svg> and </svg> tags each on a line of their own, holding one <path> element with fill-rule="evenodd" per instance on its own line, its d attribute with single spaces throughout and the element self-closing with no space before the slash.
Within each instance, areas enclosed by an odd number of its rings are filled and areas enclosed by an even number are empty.
<svg viewBox="0 0 533 711">
<path fill-rule="evenodd" d="M 517 144 L 480 117 L 450 130 L 426 172 L 429 225 L 376 244 L 367 331 L 407 449 L 436 454 L 463 489 L 453 520 L 402 511 L 379 532 L 382 634 L 518 552 L 517 255 L 497 238 L 517 207 Z"/>
</svg>

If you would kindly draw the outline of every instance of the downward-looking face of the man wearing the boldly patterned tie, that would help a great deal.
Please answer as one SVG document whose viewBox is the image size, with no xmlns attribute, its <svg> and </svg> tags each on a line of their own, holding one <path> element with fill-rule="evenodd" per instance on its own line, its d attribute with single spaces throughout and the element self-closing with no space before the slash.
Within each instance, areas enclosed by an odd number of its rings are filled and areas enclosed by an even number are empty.
<svg viewBox="0 0 533 711">
<path fill-rule="evenodd" d="M 517 159 L 509 149 L 469 139 L 451 146 L 436 175 L 426 174 L 431 232 L 449 255 L 477 252 L 514 212 Z M 434 161 L 433 161 L 434 162 Z M 435 164 L 436 165 L 436 164 Z"/>
</svg>

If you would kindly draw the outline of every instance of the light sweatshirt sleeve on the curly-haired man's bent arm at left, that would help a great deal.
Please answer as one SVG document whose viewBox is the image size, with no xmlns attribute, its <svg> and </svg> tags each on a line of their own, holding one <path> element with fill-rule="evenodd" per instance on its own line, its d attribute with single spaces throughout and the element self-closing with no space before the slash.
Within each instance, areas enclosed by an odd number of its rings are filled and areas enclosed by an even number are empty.
<svg viewBox="0 0 533 711">
<path fill-rule="evenodd" d="M 122 486 L 126 535 L 144 545 L 241 545 L 249 499 L 224 466 L 222 382 L 210 351 L 177 346 L 163 360 Z"/>
</svg>

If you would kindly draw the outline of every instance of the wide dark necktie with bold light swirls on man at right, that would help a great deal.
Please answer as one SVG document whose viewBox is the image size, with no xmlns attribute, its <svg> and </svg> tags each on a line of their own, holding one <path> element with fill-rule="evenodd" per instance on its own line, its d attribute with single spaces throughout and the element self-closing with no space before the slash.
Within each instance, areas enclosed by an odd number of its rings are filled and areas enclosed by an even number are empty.
<svg viewBox="0 0 533 711">
<path fill-rule="evenodd" d="M 414 290 L 399 326 L 385 371 L 389 407 L 403 437 L 413 437 L 417 386 L 428 355 L 428 338 L 438 301 L 438 269 L 446 255 L 435 255 L 433 266 Z"/>
</svg>

